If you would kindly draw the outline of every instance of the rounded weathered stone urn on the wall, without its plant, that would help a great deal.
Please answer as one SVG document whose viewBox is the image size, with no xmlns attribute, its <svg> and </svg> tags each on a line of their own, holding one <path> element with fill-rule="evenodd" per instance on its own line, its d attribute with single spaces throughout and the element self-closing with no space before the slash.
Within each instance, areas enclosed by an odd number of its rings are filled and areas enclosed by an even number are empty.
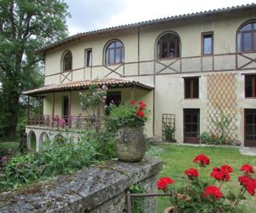
<svg viewBox="0 0 256 213">
<path fill-rule="evenodd" d="M 141 161 L 146 152 L 143 130 L 132 127 L 120 129 L 115 138 L 115 150 L 120 161 Z"/>
</svg>

